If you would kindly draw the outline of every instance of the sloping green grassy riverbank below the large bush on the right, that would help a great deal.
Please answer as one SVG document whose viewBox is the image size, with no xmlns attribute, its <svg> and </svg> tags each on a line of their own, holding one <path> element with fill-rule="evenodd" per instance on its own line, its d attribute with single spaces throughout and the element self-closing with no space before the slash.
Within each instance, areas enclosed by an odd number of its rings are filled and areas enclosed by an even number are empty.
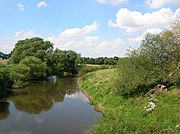
<svg viewBox="0 0 180 134">
<path fill-rule="evenodd" d="M 180 132 L 180 88 L 172 87 L 163 95 L 124 99 L 114 87 L 115 70 L 106 69 L 83 76 L 81 88 L 91 98 L 102 117 L 92 134 L 177 134 Z M 146 112 L 148 101 L 156 105 Z"/>
</svg>

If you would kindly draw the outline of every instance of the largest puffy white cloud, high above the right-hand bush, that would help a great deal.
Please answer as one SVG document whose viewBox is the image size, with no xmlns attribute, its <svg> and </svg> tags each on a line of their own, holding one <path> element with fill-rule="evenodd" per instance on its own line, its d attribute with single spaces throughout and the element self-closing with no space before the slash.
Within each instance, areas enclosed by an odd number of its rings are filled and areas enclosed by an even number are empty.
<svg viewBox="0 0 180 134">
<path fill-rule="evenodd" d="M 108 24 L 110 27 L 123 29 L 127 33 L 143 32 L 147 28 L 163 27 L 171 24 L 179 13 L 179 8 L 175 12 L 170 8 L 162 8 L 145 14 L 121 8 L 116 14 L 116 21 L 109 20 Z"/>
</svg>

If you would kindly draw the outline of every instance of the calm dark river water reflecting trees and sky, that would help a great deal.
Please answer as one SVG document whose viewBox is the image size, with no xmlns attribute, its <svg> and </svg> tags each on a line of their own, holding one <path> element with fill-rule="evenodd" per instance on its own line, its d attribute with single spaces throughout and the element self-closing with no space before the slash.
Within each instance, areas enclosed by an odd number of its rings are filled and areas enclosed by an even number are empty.
<svg viewBox="0 0 180 134">
<path fill-rule="evenodd" d="M 87 134 L 100 113 L 78 87 L 76 78 L 50 79 L 0 101 L 0 134 Z"/>
</svg>

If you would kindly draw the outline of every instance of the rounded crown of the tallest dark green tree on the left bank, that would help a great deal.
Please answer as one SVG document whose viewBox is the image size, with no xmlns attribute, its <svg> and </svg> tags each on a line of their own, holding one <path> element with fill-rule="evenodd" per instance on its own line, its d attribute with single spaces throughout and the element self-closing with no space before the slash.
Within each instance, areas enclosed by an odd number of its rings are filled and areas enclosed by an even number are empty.
<svg viewBox="0 0 180 134">
<path fill-rule="evenodd" d="M 38 37 L 20 40 L 15 44 L 10 63 L 17 64 L 26 56 L 34 56 L 43 62 L 49 62 L 52 52 L 53 44 L 49 41 L 43 41 Z"/>
</svg>

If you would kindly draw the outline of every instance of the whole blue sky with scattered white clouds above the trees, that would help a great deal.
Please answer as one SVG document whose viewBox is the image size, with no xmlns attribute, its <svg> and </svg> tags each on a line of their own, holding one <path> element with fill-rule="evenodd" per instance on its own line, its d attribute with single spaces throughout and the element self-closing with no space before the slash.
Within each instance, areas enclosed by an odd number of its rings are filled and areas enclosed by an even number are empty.
<svg viewBox="0 0 180 134">
<path fill-rule="evenodd" d="M 0 51 L 40 37 L 85 57 L 123 57 L 180 19 L 180 0 L 0 0 Z"/>
</svg>

